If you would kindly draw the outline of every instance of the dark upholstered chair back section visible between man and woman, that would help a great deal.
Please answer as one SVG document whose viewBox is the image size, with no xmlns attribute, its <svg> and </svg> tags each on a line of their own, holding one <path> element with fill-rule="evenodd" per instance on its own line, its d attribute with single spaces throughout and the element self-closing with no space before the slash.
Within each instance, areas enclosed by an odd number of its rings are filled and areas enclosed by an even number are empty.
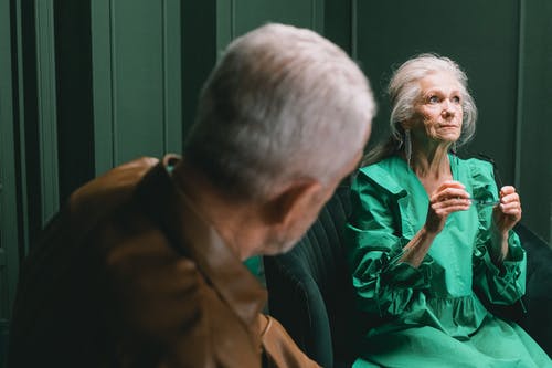
<svg viewBox="0 0 552 368">
<path fill-rule="evenodd" d="M 265 256 L 268 309 L 298 346 L 322 367 L 350 366 L 355 319 L 343 257 L 349 188 L 339 187 L 290 252 Z"/>
</svg>

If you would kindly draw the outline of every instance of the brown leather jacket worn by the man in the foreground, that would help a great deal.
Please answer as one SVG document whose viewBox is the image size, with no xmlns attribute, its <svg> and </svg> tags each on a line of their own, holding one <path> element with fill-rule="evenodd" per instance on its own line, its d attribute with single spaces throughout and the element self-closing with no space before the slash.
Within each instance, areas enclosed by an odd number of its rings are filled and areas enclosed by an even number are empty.
<svg viewBox="0 0 552 368">
<path fill-rule="evenodd" d="M 46 228 L 18 287 L 9 367 L 243 368 L 263 354 L 316 366 L 265 303 L 163 162 L 142 158 L 75 191 Z"/>
</svg>

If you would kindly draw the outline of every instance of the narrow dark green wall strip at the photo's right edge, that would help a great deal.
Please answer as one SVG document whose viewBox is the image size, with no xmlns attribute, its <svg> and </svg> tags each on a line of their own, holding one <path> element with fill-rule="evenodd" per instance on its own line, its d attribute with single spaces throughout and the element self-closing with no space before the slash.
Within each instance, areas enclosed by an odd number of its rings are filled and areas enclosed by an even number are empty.
<svg viewBox="0 0 552 368">
<path fill-rule="evenodd" d="M 517 183 L 523 221 L 552 244 L 552 1 L 521 7 Z"/>
</svg>

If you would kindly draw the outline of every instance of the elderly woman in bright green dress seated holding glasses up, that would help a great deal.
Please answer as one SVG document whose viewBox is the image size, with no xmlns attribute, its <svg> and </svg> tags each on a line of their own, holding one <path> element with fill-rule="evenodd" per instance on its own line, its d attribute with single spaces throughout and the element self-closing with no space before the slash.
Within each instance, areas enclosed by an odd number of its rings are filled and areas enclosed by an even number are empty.
<svg viewBox="0 0 552 368">
<path fill-rule="evenodd" d="M 492 165 L 459 159 L 477 109 L 447 57 L 422 54 L 394 73 L 391 137 L 352 183 L 349 260 L 367 320 L 354 367 L 551 367 L 514 323 L 484 306 L 524 293 L 513 225 L 520 198 Z"/>
</svg>

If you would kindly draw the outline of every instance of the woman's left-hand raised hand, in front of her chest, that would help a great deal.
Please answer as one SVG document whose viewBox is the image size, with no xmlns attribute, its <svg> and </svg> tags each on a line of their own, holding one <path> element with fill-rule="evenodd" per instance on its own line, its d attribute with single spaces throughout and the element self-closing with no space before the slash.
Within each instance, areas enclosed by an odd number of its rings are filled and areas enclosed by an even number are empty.
<svg viewBox="0 0 552 368">
<path fill-rule="evenodd" d="M 465 188 L 459 181 L 447 180 L 433 192 L 425 220 L 425 230 L 428 233 L 438 234 L 450 213 L 469 209 L 471 203 Z"/>
</svg>

